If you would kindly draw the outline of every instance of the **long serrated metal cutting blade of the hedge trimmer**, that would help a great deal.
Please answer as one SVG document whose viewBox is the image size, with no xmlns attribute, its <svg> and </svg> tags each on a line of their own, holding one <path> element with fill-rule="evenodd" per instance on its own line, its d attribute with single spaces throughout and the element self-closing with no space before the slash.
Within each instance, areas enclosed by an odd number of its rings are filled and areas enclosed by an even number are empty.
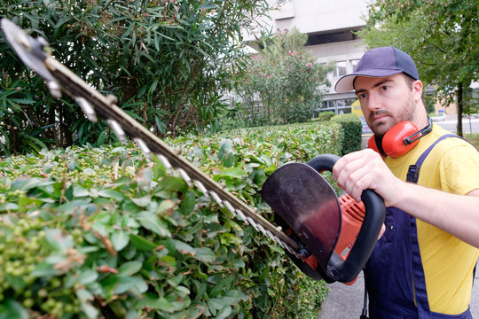
<svg viewBox="0 0 479 319">
<path fill-rule="evenodd" d="M 195 185 L 204 195 L 214 198 L 218 206 L 226 207 L 233 217 L 250 224 L 255 230 L 262 232 L 263 235 L 285 248 L 287 252 L 298 254 L 299 246 L 294 240 L 278 230 L 262 215 L 255 213 L 239 198 L 225 191 L 208 175 L 202 173 L 160 138 L 124 113 L 115 105 L 114 97 L 101 95 L 66 66 L 52 58 L 48 43 L 43 38 L 34 39 L 8 19 L 2 19 L 1 25 L 13 50 L 27 66 L 43 77 L 54 97 L 59 97 L 61 91 L 74 97 L 90 121 L 98 121 L 98 118 L 107 121 L 117 135 L 129 136 L 134 140 L 147 158 L 152 155 L 157 156 L 168 170 L 176 170 L 186 183 Z"/>
</svg>

